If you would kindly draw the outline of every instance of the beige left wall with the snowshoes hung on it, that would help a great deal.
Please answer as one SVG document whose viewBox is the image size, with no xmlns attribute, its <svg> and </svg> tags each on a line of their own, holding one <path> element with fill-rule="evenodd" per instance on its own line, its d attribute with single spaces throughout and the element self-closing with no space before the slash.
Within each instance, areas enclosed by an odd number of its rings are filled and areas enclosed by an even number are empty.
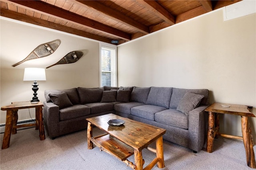
<svg viewBox="0 0 256 170">
<path fill-rule="evenodd" d="M 46 89 L 69 89 L 74 87 L 100 86 L 99 43 L 82 37 L 35 27 L 14 20 L 0 19 L 0 105 L 11 102 L 32 100 L 31 81 L 23 81 L 24 68 L 46 68 L 71 51 L 83 51 L 84 56 L 76 63 L 56 65 L 46 69 L 46 81 L 38 81 L 38 99 L 45 101 Z M 30 54 L 38 45 L 60 39 L 58 49 L 50 56 L 18 63 Z M 34 109 L 30 109 L 34 118 Z M 18 111 L 18 121 L 31 119 L 28 109 Z M 6 111 L 0 112 L 0 124 L 6 121 Z"/>
</svg>

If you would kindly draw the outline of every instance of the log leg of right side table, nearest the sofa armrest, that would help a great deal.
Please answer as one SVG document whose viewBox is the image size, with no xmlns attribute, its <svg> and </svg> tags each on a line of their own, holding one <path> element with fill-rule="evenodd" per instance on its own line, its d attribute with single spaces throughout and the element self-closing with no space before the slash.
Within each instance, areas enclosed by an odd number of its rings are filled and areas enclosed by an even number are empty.
<svg viewBox="0 0 256 170">
<path fill-rule="evenodd" d="M 208 133 L 207 133 L 206 152 L 212 153 L 213 140 L 214 140 L 215 113 L 209 111 L 208 114 L 209 114 L 209 120 L 208 120 Z"/>
</svg>

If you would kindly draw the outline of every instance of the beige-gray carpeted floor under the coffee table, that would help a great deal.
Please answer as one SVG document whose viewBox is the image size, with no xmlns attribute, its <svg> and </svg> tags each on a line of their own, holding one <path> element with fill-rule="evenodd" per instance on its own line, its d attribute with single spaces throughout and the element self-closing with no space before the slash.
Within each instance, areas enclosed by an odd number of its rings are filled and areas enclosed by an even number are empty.
<svg viewBox="0 0 256 170">
<path fill-rule="evenodd" d="M 19 130 L 11 135 L 10 147 L 0 150 L 1 170 L 131 170 L 114 156 L 97 147 L 87 149 L 86 130 L 40 141 L 34 128 Z M 94 135 L 102 134 L 94 128 Z M 0 134 L 1 147 L 4 134 Z M 154 147 L 155 144 L 150 145 Z M 254 146 L 255 154 L 256 146 Z M 155 154 L 142 150 L 144 167 Z M 134 156 L 128 160 L 134 162 Z M 246 164 L 244 144 L 241 140 L 220 137 L 214 140 L 214 152 L 201 150 L 193 153 L 179 145 L 164 141 L 162 170 L 252 170 Z M 153 170 L 159 170 L 154 166 Z"/>
</svg>

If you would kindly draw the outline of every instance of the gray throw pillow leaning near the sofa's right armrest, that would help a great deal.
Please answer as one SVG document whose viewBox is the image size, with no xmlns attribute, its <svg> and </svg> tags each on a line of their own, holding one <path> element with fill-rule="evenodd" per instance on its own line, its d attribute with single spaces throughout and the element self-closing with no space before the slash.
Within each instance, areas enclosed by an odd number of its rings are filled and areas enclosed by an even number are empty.
<svg viewBox="0 0 256 170">
<path fill-rule="evenodd" d="M 202 98 L 204 98 L 204 95 L 186 92 L 180 100 L 177 110 L 188 116 L 188 112 L 200 105 Z"/>
</svg>

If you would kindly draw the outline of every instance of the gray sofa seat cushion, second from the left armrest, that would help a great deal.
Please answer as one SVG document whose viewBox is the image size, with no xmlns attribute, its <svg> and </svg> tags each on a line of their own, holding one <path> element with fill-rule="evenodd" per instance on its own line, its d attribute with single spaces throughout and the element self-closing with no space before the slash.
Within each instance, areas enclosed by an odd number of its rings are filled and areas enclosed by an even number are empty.
<svg viewBox="0 0 256 170">
<path fill-rule="evenodd" d="M 111 111 L 114 108 L 114 105 L 112 103 L 89 103 L 85 104 L 85 106 L 91 108 L 91 114 Z"/>
</svg>

